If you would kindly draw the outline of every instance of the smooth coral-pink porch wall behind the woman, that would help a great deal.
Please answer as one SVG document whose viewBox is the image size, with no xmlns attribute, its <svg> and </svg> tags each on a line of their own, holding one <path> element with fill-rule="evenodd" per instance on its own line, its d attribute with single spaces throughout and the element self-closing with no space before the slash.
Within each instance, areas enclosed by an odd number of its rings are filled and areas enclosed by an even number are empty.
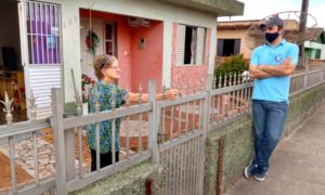
<svg viewBox="0 0 325 195">
<path fill-rule="evenodd" d="M 80 16 L 89 17 L 88 10 L 80 10 Z M 117 57 L 121 67 L 119 86 L 138 92 L 141 83 L 147 91 L 147 80 L 157 81 L 157 91 L 161 91 L 162 80 L 162 22 L 151 21 L 150 27 L 130 27 L 128 16 L 92 11 L 93 18 L 117 24 Z M 145 48 L 139 47 L 140 39 Z"/>
</svg>

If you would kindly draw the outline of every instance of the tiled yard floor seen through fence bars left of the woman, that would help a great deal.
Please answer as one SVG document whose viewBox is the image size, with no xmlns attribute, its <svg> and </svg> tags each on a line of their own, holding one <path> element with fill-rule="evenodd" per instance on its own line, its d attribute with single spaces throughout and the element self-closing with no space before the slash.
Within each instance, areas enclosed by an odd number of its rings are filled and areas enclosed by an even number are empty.
<svg viewBox="0 0 325 195">
<path fill-rule="evenodd" d="M 78 134 L 75 133 L 75 154 L 78 154 Z M 43 129 L 39 132 L 37 139 L 38 148 L 38 166 L 39 166 L 39 179 L 43 180 L 54 176 L 55 156 L 53 146 L 53 133 L 52 129 Z M 83 168 L 87 172 L 90 166 L 90 152 L 89 146 L 86 143 L 86 136 L 82 139 L 82 155 L 83 155 Z M 75 160 L 76 165 L 78 160 Z M 35 165 L 34 165 L 34 140 L 25 140 L 15 144 L 15 164 L 16 164 L 16 177 L 17 184 L 34 182 L 35 179 Z M 77 166 L 76 166 L 77 167 Z M 8 145 L 0 146 L 0 194 L 1 191 L 5 191 L 11 186 L 11 173 L 10 173 L 10 159 Z M 3 174 L 2 174 L 3 173 Z"/>
</svg>

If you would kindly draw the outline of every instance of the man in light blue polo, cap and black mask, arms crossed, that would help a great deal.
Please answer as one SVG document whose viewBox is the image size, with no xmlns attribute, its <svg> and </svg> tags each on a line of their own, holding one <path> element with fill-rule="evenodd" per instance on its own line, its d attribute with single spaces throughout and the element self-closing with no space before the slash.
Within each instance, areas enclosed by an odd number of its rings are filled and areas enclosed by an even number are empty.
<svg viewBox="0 0 325 195">
<path fill-rule="evenodd" d="M 255 158 L 245 168 L 245 177 L 264 181 L 269 159 L 282 135 L 287 114 L 290 77 L 298 62 L 299 49 L 283 39 L 284 22 L 269 17 L 261 25 L 266 43 L 252 52 L 249 76 L 255 79 L 252 119 Z"/>
</svg>

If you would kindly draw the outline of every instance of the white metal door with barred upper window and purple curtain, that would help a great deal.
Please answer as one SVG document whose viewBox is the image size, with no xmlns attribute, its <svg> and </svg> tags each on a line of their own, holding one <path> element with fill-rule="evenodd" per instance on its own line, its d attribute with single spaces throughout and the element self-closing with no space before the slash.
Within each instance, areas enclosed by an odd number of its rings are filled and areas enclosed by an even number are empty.
<svg viewBox="0 0 325 195">
<path fill-rule="evenodd" d="M 34 93 L 41 119 L 52 115 L 51 88 L 62 88 L 61 5 L 22 0 L 18 13 L 26 96 Z"/>
</svg>

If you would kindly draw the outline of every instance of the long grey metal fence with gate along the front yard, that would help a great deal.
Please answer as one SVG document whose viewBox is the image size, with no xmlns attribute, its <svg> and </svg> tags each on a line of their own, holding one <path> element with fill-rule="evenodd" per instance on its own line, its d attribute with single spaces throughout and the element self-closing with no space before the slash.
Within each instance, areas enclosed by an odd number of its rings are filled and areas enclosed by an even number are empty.
<svg viewBox="0 0 325 195">
<path fill-rule="evenodd" d="M 52 89 L 50 123 L 37 120 L 0 126 L 0 154 L 8 157 L 10 166 L 10 185 L 1 188 L 2 193 L 67 194 L 152 159 L 164 167 L 166 194 L 203 194 L 207 134 L 250 112 L 253 83 L 239 77 L 233 80 L 220 89 L 159 102 L 155 81 L 150 81 L 148 103 L 68 118 L 63 114 L 62 90 Z M 299 73 L 292 76 L 290 92 L 296 94 L 324 81 L 325 68 Z M 120 131 L 114 126 L 118 119 Z M 100 168 L 98 164 L 91 172 L 84 126 L 95 123 L 100 151 L 99 122 L 105 120 L 113 121 L 112 138 L 120 135 L 120 160 L 113 155 L 110 166 Z M 116 140 L 112 142 L 115 151 Z M 96 159 L 100 161 L 99 153 Z M 46 169 L 50 173 L 42 171 Z"/>
</svg>

